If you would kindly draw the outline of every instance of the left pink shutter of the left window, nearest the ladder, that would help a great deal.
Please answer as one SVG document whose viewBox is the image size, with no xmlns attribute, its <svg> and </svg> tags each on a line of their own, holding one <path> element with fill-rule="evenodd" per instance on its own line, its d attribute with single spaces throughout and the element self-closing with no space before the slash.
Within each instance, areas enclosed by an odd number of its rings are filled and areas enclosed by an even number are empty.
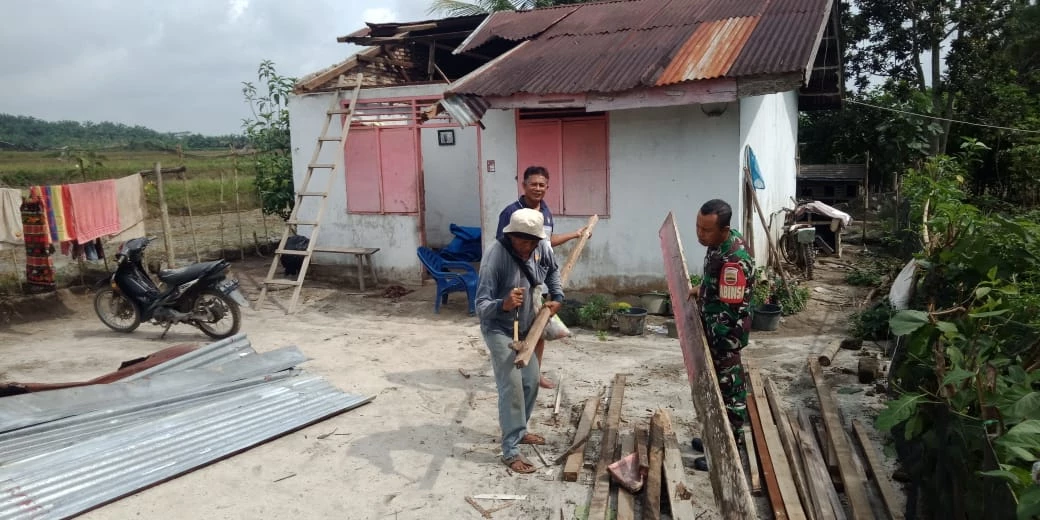
<svg viewBox="0 0 1040 520">
<path fill-rule="evenodd" d="M 379 213 L 383 209 L 380 188 L 379 130 L 352 128 L 344 153 L 346 208 L 355 213 Z"/>
</svg>

